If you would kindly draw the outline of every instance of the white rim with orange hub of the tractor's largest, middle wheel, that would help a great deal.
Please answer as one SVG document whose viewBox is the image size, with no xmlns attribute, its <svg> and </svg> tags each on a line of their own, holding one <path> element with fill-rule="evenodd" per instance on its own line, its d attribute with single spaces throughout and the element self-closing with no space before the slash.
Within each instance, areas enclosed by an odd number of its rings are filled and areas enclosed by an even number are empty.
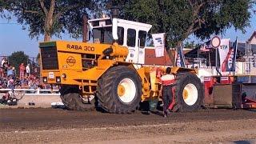
<svg viewBox="0 0 256 144">
<path fill-rule="evenodd" d="M 118 84 L 118 98 L 124 103 L 130 103 L 136 95 L 136 86 L 130 78 L 124 78 Z"/>
</svg>

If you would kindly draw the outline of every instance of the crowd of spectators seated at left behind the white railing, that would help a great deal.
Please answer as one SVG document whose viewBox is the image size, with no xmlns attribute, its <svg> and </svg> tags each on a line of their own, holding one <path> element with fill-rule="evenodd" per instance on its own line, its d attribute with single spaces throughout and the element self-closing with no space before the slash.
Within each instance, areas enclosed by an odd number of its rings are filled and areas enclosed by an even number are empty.
<svg viewBox="0 0 256 144">
<path fill-rule="evenodd" d="M 40 78 L 30 73 L 30 64 L 21 63 L 18 70 L 11 66 L 7 58 L 2 58 L 0 66 L 0 89 L 23 88 L 23 89 L 50 89 Z"/>
</svg>

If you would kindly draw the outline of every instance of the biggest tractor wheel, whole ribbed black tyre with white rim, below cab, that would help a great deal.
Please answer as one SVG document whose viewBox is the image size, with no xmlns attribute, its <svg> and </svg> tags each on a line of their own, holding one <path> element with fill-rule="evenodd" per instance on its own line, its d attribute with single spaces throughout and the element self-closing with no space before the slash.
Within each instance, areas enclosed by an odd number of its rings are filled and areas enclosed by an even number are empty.
<svg viewBox="0 0 256 144">
<path fill-rule="evenodd" d="M 109 113 L 130 113 L 139 105 L 142 83 L 135 70 L 115 66 L 98 80 L 98 105 Z"/>
</svg>

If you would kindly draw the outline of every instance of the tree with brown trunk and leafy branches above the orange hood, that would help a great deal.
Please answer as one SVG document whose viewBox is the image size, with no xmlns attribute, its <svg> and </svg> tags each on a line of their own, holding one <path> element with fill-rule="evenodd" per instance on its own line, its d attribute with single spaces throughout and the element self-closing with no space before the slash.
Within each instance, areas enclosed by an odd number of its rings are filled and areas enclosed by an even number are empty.
<svg viewBox="0 0 256 144">
<path fill-rule="evenodd" d="M 91 16 L 100 12 L 97 0 L 0 0 L 0 12 L 14 14 L 18 23 L 29 26 L 30 38 L 44 35 L 44 41 L 51 36 L 60 37 L 68 32 L 72 38 L 82 34 L 82 14 Z M 1 11 L 2 10 L 2 11 Z"/>
</svg>

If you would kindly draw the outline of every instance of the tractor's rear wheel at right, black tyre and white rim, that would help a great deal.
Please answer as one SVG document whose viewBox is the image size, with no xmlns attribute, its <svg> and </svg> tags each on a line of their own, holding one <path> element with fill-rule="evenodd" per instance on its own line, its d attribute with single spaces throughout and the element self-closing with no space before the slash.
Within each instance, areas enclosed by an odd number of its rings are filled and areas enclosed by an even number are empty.
<svg viewBox="0 0 256 144">
<path fill-rule="evenodd" d="M 178 74 L 174 85 L 174 111 L 194 111 L 202 106 L 203 88 L 200 79 L 189 72 Z"/>
</svg>

